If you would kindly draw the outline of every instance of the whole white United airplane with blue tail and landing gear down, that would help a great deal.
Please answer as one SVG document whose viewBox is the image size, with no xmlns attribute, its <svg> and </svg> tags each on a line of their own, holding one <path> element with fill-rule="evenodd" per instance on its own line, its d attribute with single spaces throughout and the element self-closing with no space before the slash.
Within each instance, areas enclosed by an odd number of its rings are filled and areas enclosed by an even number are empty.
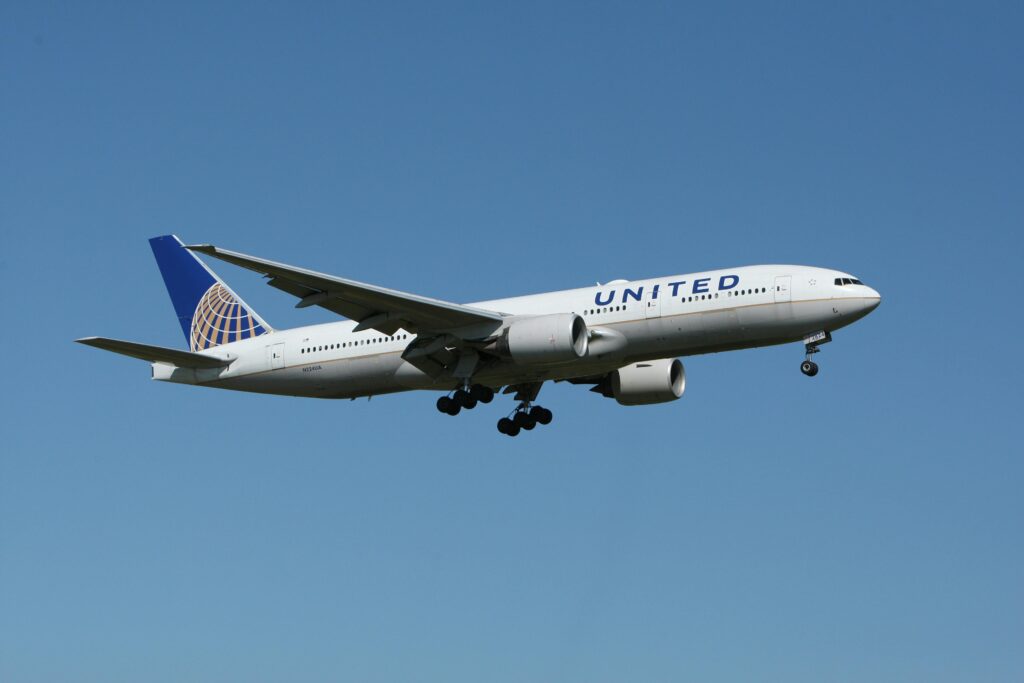
<svg viewBox="0 0 1024 683">
<path fill-rule="evenodd" d="M 678 399 L 679 356 L 802 341 L 800 370 L 831 333 L 881 295 L 850 273 L 752 265 L 458 304 L 248 256 L 173 234 L 150 240 L 188 350 L 86 337 L 79 343 L 147 360 L 163 382 L 315 398 L 441 391 L 455 416 L 496 393 L 515 408 L 498 430 L 552 421 L 548 381 L 590 385 L 623 405 Z M 349 319 L 274 330 L 198 257 L 254 270 L 298 299 Z"/>
</svg>

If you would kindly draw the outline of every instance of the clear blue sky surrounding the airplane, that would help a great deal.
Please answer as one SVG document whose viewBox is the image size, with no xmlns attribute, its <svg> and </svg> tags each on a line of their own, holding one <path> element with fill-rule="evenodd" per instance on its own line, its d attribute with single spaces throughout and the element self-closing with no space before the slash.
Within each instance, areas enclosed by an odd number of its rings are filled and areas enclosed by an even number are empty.
<svg viewBox="0 0 1024 683">
<path fill-rule="evenodd" d="M 5 3 L 4 681 L 1019 681 L 1020 3 Z M 157 384 L 176 232 L 455 301 L 884 302 L 678 402 Z M 226 264 L 279 328 L 330 321 Z"/>
</svg>

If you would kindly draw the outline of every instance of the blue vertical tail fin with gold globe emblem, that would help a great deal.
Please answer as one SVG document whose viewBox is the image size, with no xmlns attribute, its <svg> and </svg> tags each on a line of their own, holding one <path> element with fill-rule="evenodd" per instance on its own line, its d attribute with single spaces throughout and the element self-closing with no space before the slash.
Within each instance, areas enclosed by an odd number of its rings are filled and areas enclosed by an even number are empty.
<svg viewBox="0 0 1024 683">
<path fill-rule="evenodd" d="M 150 246 L 189 350 L 199 351 L 272 332 L 270 326 L 185 249 L 177 237 L 153 238 Z"/>
</svg>

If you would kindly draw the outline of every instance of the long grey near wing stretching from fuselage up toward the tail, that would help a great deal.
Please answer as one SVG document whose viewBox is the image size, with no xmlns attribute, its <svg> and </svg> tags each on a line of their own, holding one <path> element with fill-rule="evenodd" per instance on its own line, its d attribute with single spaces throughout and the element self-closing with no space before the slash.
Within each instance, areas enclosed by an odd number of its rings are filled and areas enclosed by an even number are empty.
<svg viewBox="0 0 1024 683">
<path fill-rule="evenodd" d="M 357 283 L 213 245 L 190 245 L 187 249 L 262 273 L 269 279 L 268 285 L 299 297 L 297 308 L 313 305 L 327 308 L 357 321 L 356 331 L 374 329 L 391 335 L 401 328 L 422 334 L 502 321 L 502 315 L 495 311 Z"/>
</svg>

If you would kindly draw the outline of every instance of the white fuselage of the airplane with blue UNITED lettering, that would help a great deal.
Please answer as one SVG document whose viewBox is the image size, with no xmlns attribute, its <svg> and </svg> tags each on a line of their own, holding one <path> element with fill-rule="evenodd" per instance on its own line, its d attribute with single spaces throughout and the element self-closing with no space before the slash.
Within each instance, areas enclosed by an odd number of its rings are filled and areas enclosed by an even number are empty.
<svg viewBox="0 0 1024 683">
<path fill-rule="evenodd" d="M 543 368 L 508 359 L 474 375 L 502 385 L 602 375 L 630 362 L 800 341 L 833 332 L 873 310 L 864 285 L 837 285 L 848 273 L 809 266 L 757 265 L 470 304 L 505 315 L 573 312 L 591 330 L 587 355 Z M 430 377 L 403 360 L 415 335 L 354 332 L 342 321 L 232 342 L 204 351 L 232 358 L 220 369 L 154 364 L 154 379 L 260 393 L 355 398 L 410 389 L 447 390 L 461 381 Z"/>
</svg>

